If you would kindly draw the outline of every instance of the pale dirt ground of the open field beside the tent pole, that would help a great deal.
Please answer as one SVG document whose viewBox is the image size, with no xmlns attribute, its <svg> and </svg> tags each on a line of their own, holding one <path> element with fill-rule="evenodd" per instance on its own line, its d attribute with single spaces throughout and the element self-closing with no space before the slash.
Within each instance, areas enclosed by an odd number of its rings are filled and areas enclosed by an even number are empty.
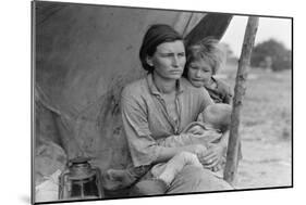
<svg viewBox="0 0 306 205">
<path fill-rule="evenodd" d="M 221 73 L 234 88 L 235 67 Z M 292 185 L 291 72 L 252 68 L 241 114 L 237 189 Z"/>
</svg>

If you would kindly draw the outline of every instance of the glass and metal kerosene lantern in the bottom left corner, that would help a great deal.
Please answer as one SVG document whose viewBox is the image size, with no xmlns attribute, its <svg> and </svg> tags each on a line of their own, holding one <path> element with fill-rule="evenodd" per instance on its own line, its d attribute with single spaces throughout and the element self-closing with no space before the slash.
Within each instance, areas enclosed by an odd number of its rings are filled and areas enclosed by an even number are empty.
<svg viewBox="0 0 306 205">
<path fill-rule="evenodd" d="M 102 198 L 101 172 L 93 168 L 88 157 L 69 161 L 66 169 L 60 176 L 60 200 Z"/>
</svg>

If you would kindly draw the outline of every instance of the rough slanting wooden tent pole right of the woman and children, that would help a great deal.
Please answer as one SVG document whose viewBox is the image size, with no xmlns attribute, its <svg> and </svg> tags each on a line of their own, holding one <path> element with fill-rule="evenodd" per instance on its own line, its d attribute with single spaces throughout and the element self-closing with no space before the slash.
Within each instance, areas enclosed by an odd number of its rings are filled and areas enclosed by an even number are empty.
<svg viewBox="0 0 306 205">
<path fill-rule="evenodd" d="M 258 17 L 249 16 L 245 29 L 244 41 L 235 81 L 235 94 L 233 99 L 233 112 L 231 115 L 230 138 L 227 153 L 227 164 L 224 169 L 224 180 L 232 185 L 236 182 L 237 155 L 240 144 L 240 113 L 242 110 L 242 100 L 246 90 L 246 78 L 249 69 L 249 60 L 255 36 L 258 27 Z"/>
</svg>

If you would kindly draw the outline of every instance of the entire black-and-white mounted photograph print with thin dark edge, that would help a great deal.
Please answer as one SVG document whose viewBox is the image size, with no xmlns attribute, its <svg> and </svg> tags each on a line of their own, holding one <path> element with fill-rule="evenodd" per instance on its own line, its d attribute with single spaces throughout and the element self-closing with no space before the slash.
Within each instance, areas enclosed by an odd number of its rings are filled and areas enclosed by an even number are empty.
<svg viewBox="0 0 306 205">
<path fill-rule="evenodd" d="M 32 1 L 32 203 L 293 188 L 293 17 Z"/>
</svg>

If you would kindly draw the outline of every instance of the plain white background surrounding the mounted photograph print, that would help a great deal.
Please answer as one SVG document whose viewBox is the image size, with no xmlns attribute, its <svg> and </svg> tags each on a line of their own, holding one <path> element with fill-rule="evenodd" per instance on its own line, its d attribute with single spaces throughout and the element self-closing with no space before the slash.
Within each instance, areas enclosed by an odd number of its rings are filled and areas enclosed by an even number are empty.
<svg viewBox="0 0 306 205">
<path fill-rule="evenodd" d="M 62 0 L 63 2 L 70 2 Z M 131 5 L 146 8 L 198 10 L 225 13 L 247 13 L 294 17 L 294 189 L 264 190 L 203 195 L 181 195 L 137 200 L 86 202 L 85 204 L 291 204 L 305 202 L 305 131 L 302 114 L 305 113 L 305 7 L 298 1 L 267 0 L 71 0 L 73 2 Z M 180 2 L 180 3 L 179 3 Z M 299 1 L 303 2 L 303 1 Z M 1 175 L 0 203 L 29 203 L 30 158 L 30 1 L 1 2 Z M 303 46 L 302 46 L 303 44 Z M 304 105 L 304 106 L 303 106 Z M 298 111 L 297 111 L 298 110 Z M 71 203 L 69 203 L 71 204 Z M 84 204 L 84 203 L 73 203 Z"/>
</svg>

